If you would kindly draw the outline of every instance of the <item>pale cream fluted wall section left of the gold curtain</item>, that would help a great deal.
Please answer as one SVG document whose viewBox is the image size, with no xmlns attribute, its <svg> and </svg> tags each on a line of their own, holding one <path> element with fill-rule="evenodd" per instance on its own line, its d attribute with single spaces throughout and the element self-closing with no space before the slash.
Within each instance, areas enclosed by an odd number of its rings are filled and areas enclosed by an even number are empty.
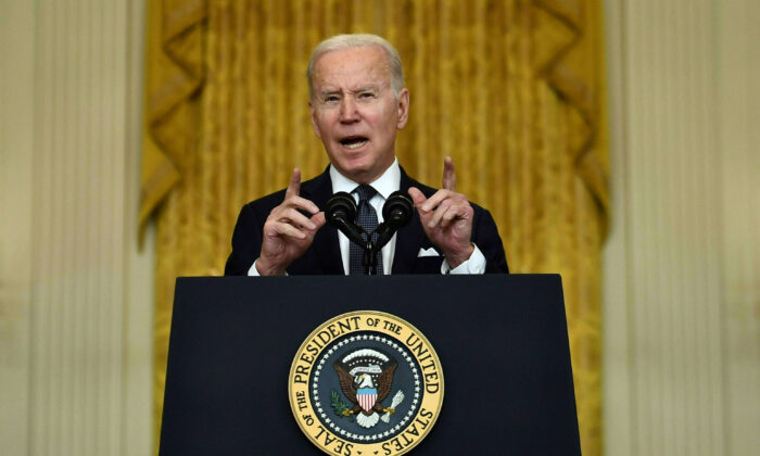
<svg viewBox="0 0 760 456">
<path fill-rule="evenodd" d="M 3 1 L 0 16 L 0 453 L 148 455 L 143 2 Z"/>
</svg>

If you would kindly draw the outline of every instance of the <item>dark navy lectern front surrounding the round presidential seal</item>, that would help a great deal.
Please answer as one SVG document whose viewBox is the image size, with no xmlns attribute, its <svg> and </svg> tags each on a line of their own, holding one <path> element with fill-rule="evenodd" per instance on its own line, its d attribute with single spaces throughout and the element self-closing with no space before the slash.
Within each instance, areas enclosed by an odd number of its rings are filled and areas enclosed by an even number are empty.
<svg viewBox="0 0 760 456">
<path fill-rule="evenodd" d="M 580 455 L 561 280 L 555 275 L 179 278 L 163 456 L 322 454 L 288 400 L 319 325 L 380 311 L 419 329 L 445 381 L 413 455 Z"/>
</svg>

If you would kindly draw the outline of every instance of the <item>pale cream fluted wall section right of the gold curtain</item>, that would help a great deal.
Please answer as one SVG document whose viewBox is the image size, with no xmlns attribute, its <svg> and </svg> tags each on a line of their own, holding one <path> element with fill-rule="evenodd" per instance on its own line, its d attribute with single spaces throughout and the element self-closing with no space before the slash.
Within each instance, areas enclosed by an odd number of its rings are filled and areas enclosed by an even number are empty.
<svg viewBox="0 0 760 456">
<path fill-rule="evenodd" d="M 758 3 L 606 7 L 606 453 L 750 454 L 760 422 Z"/>
</svg>

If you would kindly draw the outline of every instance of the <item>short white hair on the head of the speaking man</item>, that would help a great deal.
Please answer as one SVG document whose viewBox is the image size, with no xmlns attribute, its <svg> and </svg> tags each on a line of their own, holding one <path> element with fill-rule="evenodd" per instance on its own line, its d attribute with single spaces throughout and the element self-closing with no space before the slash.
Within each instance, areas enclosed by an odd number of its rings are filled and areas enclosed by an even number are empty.
<svg viewBox="0 0 760 456">
<path fill-rule="evenodd" d="M 391 73 L 391 89 L 398 97 L 398 93 L 404 88 L 404 68 L 401 65 L 401 56 L 398 51 L 388 40 L 377 35 L 370 34 L 354 34 L 354 35 L 335 35 L 330 37 L 314 48 L 312 59 L 306 67 L 306 79 L 308 79 L 308 94 L 314 97 L 314 65 L 317 60 L 330 51 L 340 51 L 345 49 L 365 48 L 368 46 L 379 46 L 385 51 L 388 58 L 388 66 Z"/>
</svg>

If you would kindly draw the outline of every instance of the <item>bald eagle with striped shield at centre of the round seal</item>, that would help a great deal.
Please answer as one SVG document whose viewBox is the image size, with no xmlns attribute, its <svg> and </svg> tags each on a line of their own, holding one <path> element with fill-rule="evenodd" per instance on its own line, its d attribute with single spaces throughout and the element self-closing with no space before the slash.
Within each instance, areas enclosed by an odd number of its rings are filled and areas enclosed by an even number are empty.
<svg viewBox="0 0 760 456">
<path fill-rule="evenodd" d="M 332 408 L 337 415 L 355 416 L 356 422 L 367 429 L 379 420 L 390 422 L 395 407 L 404 401 L 404 393 L 398 390 L 390 407 L 383 405 L 393 387 L 397 367 L 394 359 L 377 350 L 359 349 L 343 356 L 332 367 L 338 372 L 343 395 L 353 404 L 353 407 L 344 404 L 333 392 Z"/>
</svg>

